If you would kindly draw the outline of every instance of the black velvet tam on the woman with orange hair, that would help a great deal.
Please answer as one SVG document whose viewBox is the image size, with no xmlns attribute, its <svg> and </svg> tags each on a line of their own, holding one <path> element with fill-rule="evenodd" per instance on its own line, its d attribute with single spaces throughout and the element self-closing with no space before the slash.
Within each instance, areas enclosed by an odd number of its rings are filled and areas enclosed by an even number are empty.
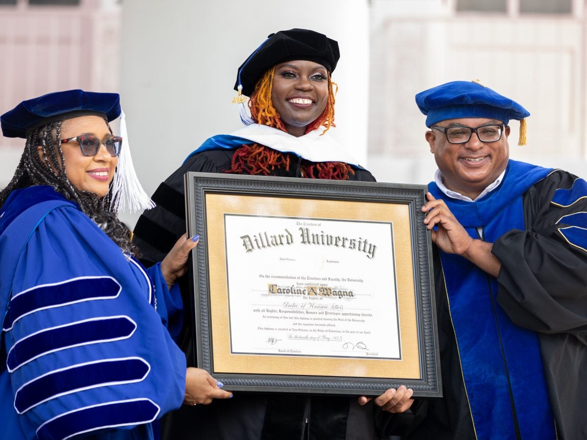
<svg viewBox="0 0 587 440">
<path fill-rule="evenodd" d="M 238 68 L 234 90 L 242 84 L 242 93 L 251 96 L 255 84 L 269 67 L 291 60 L 313 61 L 332 73 L 339 57 L 338 42 L 323 33 L 308 29 L 272 33 Z"/>
</svg>

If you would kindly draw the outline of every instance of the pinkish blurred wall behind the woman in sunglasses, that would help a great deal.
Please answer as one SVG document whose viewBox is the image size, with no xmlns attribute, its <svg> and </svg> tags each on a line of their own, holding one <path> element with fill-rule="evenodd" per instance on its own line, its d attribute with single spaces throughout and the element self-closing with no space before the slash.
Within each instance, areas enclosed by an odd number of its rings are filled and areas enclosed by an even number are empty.
<svg viewBox="0 0 587 440">
<path fill-rule="evenodd" d="M 56 90 L 117 92 L 121 23 L 121 6 L 100 0 L 80 0 L 77 6 L 33 6 L 27 0 L 0 5 L 0 114 Z M 20 151 L 22 145 L 22 139 L 0 136 L 2 162 L 11 161 L 15 152 L 10 150 Z M 7 178 L 2 174 L 0 187 Z"/>
</svg>

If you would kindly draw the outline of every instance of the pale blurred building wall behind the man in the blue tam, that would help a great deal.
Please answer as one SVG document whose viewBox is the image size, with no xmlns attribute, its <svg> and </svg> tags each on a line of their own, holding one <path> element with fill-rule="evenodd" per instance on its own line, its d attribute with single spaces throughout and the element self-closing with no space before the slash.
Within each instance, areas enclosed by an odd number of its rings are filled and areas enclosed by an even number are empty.
<svg viewBox="0 0 587 440">
<path fill-rule="evenodd" d="M 512 158 L 587 176 L 585 0 L 373 0 L 369 27 L 377 178 L 431 180 L 414 94 L 473 79 L 531 113 L 525 147 L 510 123 Z"/>
</svg>

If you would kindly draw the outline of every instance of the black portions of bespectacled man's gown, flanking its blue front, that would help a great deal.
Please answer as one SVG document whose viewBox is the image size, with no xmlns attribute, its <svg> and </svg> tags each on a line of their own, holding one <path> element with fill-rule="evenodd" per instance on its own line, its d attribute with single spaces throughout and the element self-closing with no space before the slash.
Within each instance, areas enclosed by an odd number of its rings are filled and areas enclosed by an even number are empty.
<svg viewBox="0 0 587 440">
<path fill-rule="evenodd" d="M 587 184 L 558 170 L 525 191 L 522 205 L 525 230 L 505 233 L 492 249 L 502 265 L 497 278 L 498 307 L 514 324 L 538 335 L 557 438 L 585 439 Z M 417 400 L 407 414 L 384 422 L 385 431 L 407 440 L 487 438 L 474 429 L 443 268 L 434 251 L 444 397 Z M 488 411 L 491 405 L 488 401 Z"/>
</svg>

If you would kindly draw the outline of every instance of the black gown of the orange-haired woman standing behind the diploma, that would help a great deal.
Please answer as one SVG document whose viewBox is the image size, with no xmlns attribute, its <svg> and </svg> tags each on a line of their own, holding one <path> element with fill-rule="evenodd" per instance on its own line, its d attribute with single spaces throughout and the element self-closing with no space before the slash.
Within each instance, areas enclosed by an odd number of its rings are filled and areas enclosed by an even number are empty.
<svg viewBox="0 0 587 440">
<path fill-rule="evenodd" d="M 225 172 L 231 167 L 235 150 L 209 150 L 191 155 L 178 170 L 161 183 L 153 194 L 157 207 L 145 211 L 134 229 L 133 242 L 143 259 L 159 261 L 171 249 L 178 236 L 185 233 L 184 174 L 187 171 Z M 274 176 L 300 177 L 301 159 L 292 155 L 289 171 L 272 172 Z M 354 168 L 349 180 L 375 181 L 366 170 Z M 179 281 L 181 291 L 188 292 L 185 277 Z M 191 299 L 184 297 L 184 304 Z M 186 320 L 180 347 L 188 365 L 195 366 L 191 323 Z M 300 440 L 306 432 L 309 440 L 375 440 L 377 425 L 386 422 L 386 414 L 372 402 L 365 406 L 357 397 L 308 396 L 292 394 L 235 393 L 230 400 L 210 405 L 182 407 L 166 416 L 163 438 L 173 440 Z M 306 420 L 308 421 L 306 425 Z"/>
</svg>

